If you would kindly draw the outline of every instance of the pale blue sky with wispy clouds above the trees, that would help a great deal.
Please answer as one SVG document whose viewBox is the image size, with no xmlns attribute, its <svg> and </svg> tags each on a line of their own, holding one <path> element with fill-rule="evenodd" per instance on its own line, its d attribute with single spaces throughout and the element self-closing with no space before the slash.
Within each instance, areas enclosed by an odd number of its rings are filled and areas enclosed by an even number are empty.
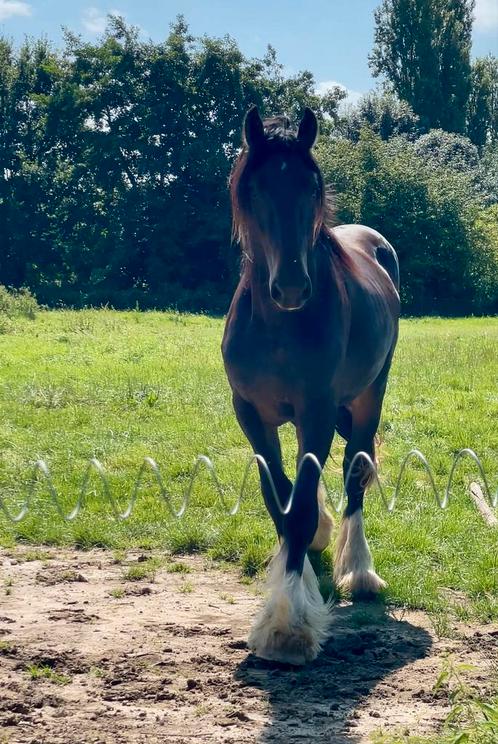
<svg viewBox="0 0 498 744">
<path fill-rule="evenodd" d="M 0 33 L 22 41 L 45 35 L 61 41 L 61 27 L 95 39 L 106 14 L 119 12 L 152 39 L 164 38 L 183 13 L 195 35 L 230 34 L 248 56 L 273 44 L 288 72 L 311 70 L 317 83 L 339 82 L 355 93 L 375 83 L 367 56 L 373 10 L 380 0 L 0 0 Z M 474 56 L 498 56 L 498 0 L 477 0 Z"/>
</svg>

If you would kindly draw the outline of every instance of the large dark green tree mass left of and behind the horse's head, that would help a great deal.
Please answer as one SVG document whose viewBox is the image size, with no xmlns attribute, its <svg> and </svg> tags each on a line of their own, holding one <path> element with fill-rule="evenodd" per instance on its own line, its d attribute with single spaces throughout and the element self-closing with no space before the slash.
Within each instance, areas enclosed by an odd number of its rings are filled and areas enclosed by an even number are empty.
<svg viewBox="0 0 498 744">
<path fill-rule="evenodd" d="M 226 307 L 227 179 L 256 103 L 330 127 L 343 96 L 285 77 L 270 48 L 194 39 L 182 18 L 159 44 L 112 17 L 99 43 L 67 34 L 0 43 L 1 281 L 45 302 Z"/>
</svg>

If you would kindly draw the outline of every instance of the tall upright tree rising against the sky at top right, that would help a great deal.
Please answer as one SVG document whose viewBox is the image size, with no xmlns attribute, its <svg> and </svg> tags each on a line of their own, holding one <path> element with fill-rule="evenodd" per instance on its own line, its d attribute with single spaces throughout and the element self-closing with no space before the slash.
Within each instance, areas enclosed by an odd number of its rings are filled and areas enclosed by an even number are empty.
<svg viewBox="0 0 498 744">
<path fill-rule="evenodd" d="M 464 132 L 474 0 L 383 0 L 370 65 L 427 129 Z"/>
</svg>

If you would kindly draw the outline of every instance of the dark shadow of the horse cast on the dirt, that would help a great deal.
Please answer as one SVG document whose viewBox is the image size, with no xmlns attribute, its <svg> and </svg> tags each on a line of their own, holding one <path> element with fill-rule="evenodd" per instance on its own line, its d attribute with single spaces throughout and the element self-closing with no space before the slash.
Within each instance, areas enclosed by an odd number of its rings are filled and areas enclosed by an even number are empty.
<svg viewBox="0 0 498 744">
<path fill-rule="evenodd" d="M 248 691 L 264 691 L 271 708 L 257 741 L 368 741 L 358 720 L 366 698 L 382 685 L 382 698 L 394 705 L 397 685 L 390 675 L 426 656 L 431 645 L 427 631 L 394 619 L 382 604 L 334 608 L 330 640 L 312 664 L 288 667 L 253 655 L 239 664 L 236 679 Z"/>
</svg>

